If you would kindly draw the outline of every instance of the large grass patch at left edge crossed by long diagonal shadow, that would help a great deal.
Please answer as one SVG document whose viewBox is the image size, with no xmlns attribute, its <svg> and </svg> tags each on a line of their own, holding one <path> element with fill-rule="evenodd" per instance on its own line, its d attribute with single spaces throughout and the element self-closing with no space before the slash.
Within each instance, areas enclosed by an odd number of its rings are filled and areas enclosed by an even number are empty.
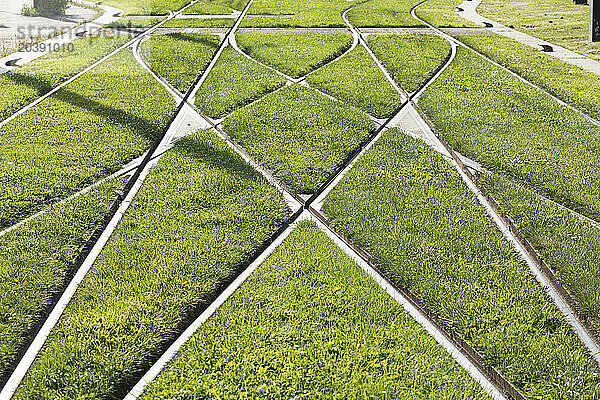
<svg viewBox="0 0 600 400">
<path fill-rule="evenodd" d="M 0 227 L 140 156 L 174 107 L 123 50 L 6 124 L 0 129 Z"/>
</svg>

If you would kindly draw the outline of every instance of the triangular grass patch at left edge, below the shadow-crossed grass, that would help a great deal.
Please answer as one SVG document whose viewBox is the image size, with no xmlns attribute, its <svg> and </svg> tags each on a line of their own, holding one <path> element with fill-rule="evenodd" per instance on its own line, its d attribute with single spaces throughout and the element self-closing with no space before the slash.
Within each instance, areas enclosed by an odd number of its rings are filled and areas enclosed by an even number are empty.
<svg viewBox="0 0 600 400">
<path fill-rule="evenodd" d="M 123 184 L 109 180 L 0 237 L 0 379 Z"/>
</svg>

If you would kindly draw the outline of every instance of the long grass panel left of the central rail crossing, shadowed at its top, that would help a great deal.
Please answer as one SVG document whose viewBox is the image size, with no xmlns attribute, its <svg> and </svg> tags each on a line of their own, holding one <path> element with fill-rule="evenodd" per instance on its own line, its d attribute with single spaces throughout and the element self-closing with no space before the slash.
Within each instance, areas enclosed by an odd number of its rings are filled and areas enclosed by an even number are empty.
<svg viewBox="0 0 600 400">
<path fill-rule="evenodd" d="M 122 398 L 287 216 L 281 195 L 210 131 L 151 171 L 16 399 Z"/>
</svg>

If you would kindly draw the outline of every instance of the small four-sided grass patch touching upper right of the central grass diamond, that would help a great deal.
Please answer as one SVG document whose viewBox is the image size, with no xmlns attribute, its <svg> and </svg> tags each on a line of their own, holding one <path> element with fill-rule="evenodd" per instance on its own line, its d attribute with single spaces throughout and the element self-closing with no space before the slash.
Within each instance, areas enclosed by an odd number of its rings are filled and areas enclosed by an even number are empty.
<svg viewBox="0 0 600 400">
<path fill-rule="evenodd" d="M 378 118 L 389 117 L 402 104 L 396 89 L 363 46 L 309 75 L 307 81 Z"/>
</svg>

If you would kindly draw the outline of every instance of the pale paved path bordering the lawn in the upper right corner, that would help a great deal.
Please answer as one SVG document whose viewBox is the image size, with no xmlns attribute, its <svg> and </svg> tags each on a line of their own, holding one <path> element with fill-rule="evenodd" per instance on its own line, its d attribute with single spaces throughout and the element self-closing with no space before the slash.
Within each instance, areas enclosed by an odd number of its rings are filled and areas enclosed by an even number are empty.
<svg viewBox="0 0 600 400">
<path fill-rule="evenodd" d="M 491 27 L 488 28 L 488 30 L 490 30 L 491 32 L 509 37 L 511 39 L 516 40 L 517 42 L 521 42 L 531 47 L 540 49 L 542 45 L 552 46 L 554 51 L 548 52 L 546 54 L 563 60 L 569 64 L 581 67 L 584 70 L 592 72 L 596 75 L 600 75 L 600 62 L 596 60 L 592 60 L 591 58 L 582 56 L 581 54 L 565 49 L 564 47 L 546 42 L 545 40 L 538 39 L 526 33 L 516 31 L 496 21 L 492 21 L 490 19 L 482 17 L 477 13 L 477 7 L 479 6 L 479 4 L 481 4 L 481 1 L 482 0 L 468 0 L 463 2 L 459 6 L 459 8 L 463 9 L 464 11 L 457 11 L 458 15 L 478 25 L 486 26 L 486 24 L 491 24 Z"/>
</svg>

